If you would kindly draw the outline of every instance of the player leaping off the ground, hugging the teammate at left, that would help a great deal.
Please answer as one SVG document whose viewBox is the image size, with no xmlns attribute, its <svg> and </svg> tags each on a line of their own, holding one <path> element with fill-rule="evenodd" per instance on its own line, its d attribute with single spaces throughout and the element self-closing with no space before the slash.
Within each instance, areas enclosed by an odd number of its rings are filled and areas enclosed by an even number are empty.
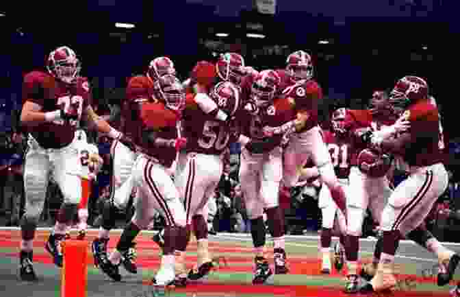
<svg viewBox="0 0 460 297">
<path fill-rule="evenodd" d="M 294 115 L 283 126 L 264 127 L 264 134 L 289 134 L 290 141 L 283 152 L 283 186 L 280 200 L 290 199 L 290 189 L 296 185 L 300 168 L 311 158 L 331 196 L 342 213 L 346 211 L 344 189 L 335 176 L 331 156 L 322 140 L 318 126 L 318 102 L 322 99 L 322 89 L 313 79 L 311 57 L 305 51 L 296 51 L 288 56 L 286 67 L 289 84 L 283 89 L 282 95 L 292 102 Z"/>
</svg>

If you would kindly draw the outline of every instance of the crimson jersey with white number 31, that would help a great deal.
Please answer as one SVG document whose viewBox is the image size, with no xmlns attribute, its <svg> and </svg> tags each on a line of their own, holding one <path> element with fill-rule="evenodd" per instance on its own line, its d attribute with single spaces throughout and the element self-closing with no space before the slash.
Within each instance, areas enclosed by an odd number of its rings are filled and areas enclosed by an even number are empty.
<svg viewBox="0 0 460 297">
<path fill-rule="evenodd" d="M 350 137 L 337 137 L 335 133 L 329 130 L 323 130 L 322 136 L 329 154 L 331 154 L 331 161 L 337 178 L 348 178 L 350 175 L 352 153 L 355 152 L 355 143 L 351 141 Z"/>
</svg>

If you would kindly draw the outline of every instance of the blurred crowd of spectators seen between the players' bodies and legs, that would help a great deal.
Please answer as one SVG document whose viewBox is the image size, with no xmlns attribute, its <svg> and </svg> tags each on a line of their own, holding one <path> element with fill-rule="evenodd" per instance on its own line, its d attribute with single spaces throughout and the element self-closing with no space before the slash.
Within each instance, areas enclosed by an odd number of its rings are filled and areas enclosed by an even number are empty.
<svg viewBox="0 0 460 297">
<path fill-rule="evenodd" d="M 99 107 L 99 113 L 110 119 L 116 112 L 115 106 L 111 108 Z M 12 123 L 17 123 L 18 115 L 12 113 Z M 24 209 L 23 189 L 23 159 L 27 148 L 27 136 L 14 129 L 11 125 L 8 130 L 0 131 L 0 224 L 5 226 L 18 226 L 19 219 Z M 97 144 L 99 154 L 104 160 L 104 165 L 97 182 L 94 182 L 89 200 L 90 210 L 88 223 L 98 227 L 101 224 L 101 205 L 110 196 L 110 139 L 88 132 L 88 142 Z M 446 148 L 450 155 L 450 183 L 448 190 L 439 197 L 437 204 L 426 220 L 427 226 L 442 241 L 458 241 L 455 231 L 460 226 L 460 174 L 455 160 L 460 159 L 460 141 L 450 141 Z M 210 233 L 231 232 L 247 233 L 251 226 L 242 203 L 242 191 L 238 180 L 240 165 L 240 147 L 238 143 L 231 145 L 227 154 L 227 162 L 224 174 L 220 180 L 218 189 L 212 197 L 209 206 L 209 231 Z M 395 172 L 394 185 L 405 179 L 403 172 Z M 321 189 L 320 182 L 301 182 L 292 190 L 290 209 L 285 211 L 287 233 L 302 235 L 316 232 L 321 226 L 321 212 L 318 208 L 318 193 Z M 132 193 L 132 198 L 135 193 Z M 62 202 L 62 195 L 58 187 L 51 181 L 47 193 L 47 202 L 42 213 L 43 226 L 52 226 L 57 209 Z M 124 226 L 133 215 L 132 199 L 127 210 L 118 213 L 118 223 Z M 162 227 L 161 217 L 155 219 L 152 229 Z M 374 222 L 368 215 L 363 227 L 363 237 L 376 236 Z"/>
</svg>

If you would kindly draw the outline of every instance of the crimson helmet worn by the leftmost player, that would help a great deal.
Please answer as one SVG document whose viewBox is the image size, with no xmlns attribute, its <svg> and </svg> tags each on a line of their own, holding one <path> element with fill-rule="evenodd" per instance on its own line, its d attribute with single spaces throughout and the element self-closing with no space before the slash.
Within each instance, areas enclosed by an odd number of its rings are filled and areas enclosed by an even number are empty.
<svg viewBox="0 0 460 297">
<path fill-rule="evenodd" d="M 79 76 L 81 65 L 70 47 L 58 47 L 49 54 L 47 69 L 55 78 L 71 84 Z"/>
</svg>

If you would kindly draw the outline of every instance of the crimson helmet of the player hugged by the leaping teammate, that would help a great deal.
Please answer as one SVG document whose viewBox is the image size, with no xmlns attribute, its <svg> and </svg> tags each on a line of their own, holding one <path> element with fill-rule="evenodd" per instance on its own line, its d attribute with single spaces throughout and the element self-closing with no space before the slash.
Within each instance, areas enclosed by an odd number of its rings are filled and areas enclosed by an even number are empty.
<svg viewBox="0 0 460 297">
<path fill-rule="evenodd" d="M 280 84 L 281 78 L 276 71 L 260 71 L 251 86 L 251 100 L 257 107 L 270 104 Z"/>
</svg>

